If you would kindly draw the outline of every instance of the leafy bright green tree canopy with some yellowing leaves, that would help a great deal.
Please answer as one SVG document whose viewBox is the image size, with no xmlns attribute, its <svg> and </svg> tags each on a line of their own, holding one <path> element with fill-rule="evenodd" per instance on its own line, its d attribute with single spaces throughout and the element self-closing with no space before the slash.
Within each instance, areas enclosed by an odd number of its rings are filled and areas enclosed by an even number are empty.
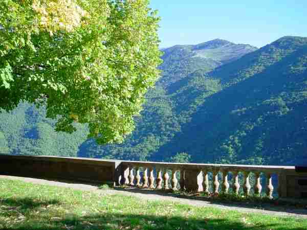
<svg viewBox="0 0 307 230">
<path fill-rule="evenodd" d="M 0 109 L 46 105 L 58 131 L 122 142 L 159 75 L 158 21 L 147 0 L 2 0 Z"/>
</svg>

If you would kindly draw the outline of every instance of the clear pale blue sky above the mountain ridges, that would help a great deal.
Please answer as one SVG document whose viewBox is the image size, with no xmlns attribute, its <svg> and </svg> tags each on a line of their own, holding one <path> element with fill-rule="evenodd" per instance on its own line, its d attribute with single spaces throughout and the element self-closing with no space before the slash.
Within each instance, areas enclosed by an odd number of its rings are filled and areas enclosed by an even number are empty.
<svg viewBox="0 0 307 230">
<path fill-rule="evenodd" d="M 307 0 L 151 0 L 159 10 L 161 48 L 215 38 L 260 48 L 286 36 L 307 37 Z"/>
</svg>

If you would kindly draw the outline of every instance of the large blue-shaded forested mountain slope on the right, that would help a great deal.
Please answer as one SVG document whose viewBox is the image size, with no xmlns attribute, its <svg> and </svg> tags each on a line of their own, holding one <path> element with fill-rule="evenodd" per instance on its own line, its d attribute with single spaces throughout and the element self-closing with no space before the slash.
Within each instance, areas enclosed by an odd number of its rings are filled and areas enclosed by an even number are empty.
<svg viewBox="0 0 307 230">
<path fill-rule="evenodd" d="M 307 155 L 307 38 L 283 37 L 207 78 L 222 90 L 156 159 L 188 152 L 194 162 L 293 164 Z"/>
</svg>

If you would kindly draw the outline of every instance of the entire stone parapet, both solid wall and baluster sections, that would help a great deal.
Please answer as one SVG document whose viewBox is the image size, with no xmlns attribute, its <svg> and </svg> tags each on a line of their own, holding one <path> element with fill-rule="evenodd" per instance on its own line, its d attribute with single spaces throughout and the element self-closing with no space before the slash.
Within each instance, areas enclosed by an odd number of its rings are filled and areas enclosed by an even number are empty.
<svg viewBox="0 0 307 230">
<path fill-rule="evenodd" d="M 292 166 L 132 162 L 0 154 L 0 174 L 114 183 L 155 190 L 307 198 L 307 172 Z"/>
</svg>

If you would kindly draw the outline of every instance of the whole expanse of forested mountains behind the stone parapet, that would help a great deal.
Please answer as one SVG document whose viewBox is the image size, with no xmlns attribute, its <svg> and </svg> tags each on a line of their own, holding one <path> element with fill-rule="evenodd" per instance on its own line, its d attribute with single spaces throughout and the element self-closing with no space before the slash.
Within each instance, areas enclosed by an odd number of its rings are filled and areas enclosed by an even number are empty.
<svg viewBox="0 0 307 230">
<path fill-rule="evenodd" d="M 120 145 L 54 131 L 43 107 L 0 114 L 0 152 L 196 163 L 294 164 L 307 149 L 307 38 L 260 49 L 215 39 L 163 49 L 162 75 Z"/>
</svg>

